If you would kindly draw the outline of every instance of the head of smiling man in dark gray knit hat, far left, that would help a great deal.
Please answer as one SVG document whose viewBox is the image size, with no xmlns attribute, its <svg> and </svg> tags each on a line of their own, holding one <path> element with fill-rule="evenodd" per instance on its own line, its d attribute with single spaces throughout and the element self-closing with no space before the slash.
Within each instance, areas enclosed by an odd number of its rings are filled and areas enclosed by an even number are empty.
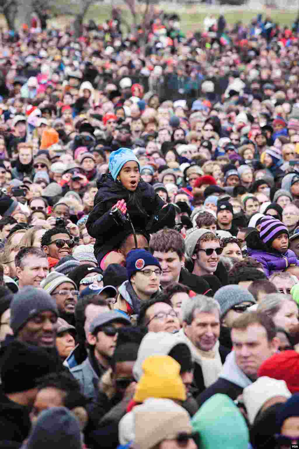
<svg viewBox="0 0 299 449">
<path fill-rule="evenodd" d="M 10 327 L 22 343 L 54 348 L 57 317 L 55 300 L 32 286 L 19 290 L 10 305 Z"/>
</svg>

